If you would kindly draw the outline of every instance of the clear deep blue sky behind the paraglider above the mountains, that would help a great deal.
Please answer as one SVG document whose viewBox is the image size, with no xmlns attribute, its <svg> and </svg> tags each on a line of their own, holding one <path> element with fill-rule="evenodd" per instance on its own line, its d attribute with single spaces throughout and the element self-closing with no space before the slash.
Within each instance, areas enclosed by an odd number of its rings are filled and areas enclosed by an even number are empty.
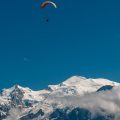
<svg viewBox="0 0 120 120">
<path fill-rule="evenodd" d="M 0 89 L 41 89 L 72 75 L 120 82 L 120 0 L 41 9 L 43 1 L 0 1 Z"/>
</svg>

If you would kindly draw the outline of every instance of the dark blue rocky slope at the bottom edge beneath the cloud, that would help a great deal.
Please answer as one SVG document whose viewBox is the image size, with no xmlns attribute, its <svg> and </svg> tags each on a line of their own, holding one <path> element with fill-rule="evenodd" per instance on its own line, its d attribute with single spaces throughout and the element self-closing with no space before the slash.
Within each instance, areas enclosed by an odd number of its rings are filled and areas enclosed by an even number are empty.
<svg viewBox="0 0 120 120">
<path fill-rule="evenodd" d="M 114 120 L 112 114 L 92 116 L 91 112 L 83 108 L 56 109 L 49 117 L 49 120 Z"/>
</svg>

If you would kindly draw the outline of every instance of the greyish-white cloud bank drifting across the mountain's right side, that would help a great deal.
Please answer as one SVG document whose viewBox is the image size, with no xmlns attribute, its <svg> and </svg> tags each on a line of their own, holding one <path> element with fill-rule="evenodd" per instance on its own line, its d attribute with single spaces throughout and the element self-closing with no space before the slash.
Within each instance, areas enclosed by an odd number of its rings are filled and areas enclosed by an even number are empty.
<svg viewBox="0 0 120 120">
<path fill-rule="evenodd" d="M 91 111 L 94 116 L 96 113 L 106 115 L 115 114 L 115 120 L 120 119 L 120 88 L 111 91 L 96 92 L 84 96 L 65 96 L 49 97 L 51 102 L 60 103 L 63 106 L 81 107 Z M 103 110 L 103 111 L 102 111 Z"/>
</svg>

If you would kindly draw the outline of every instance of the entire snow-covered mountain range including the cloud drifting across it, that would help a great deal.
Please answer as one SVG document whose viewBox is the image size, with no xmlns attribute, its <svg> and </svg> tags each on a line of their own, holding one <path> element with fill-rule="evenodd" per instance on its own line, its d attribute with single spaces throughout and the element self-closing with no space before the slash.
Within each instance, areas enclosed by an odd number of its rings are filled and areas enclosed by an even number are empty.
<svg viewBox="0 0 120 120">
<path fill-rule="evenodd" d="M 15 85 L 1 91 L 0 120 L 119 120 L 119 100 L 120 83 L 102 78 L 73 76 L 39 91 Z"/>
</svg>

